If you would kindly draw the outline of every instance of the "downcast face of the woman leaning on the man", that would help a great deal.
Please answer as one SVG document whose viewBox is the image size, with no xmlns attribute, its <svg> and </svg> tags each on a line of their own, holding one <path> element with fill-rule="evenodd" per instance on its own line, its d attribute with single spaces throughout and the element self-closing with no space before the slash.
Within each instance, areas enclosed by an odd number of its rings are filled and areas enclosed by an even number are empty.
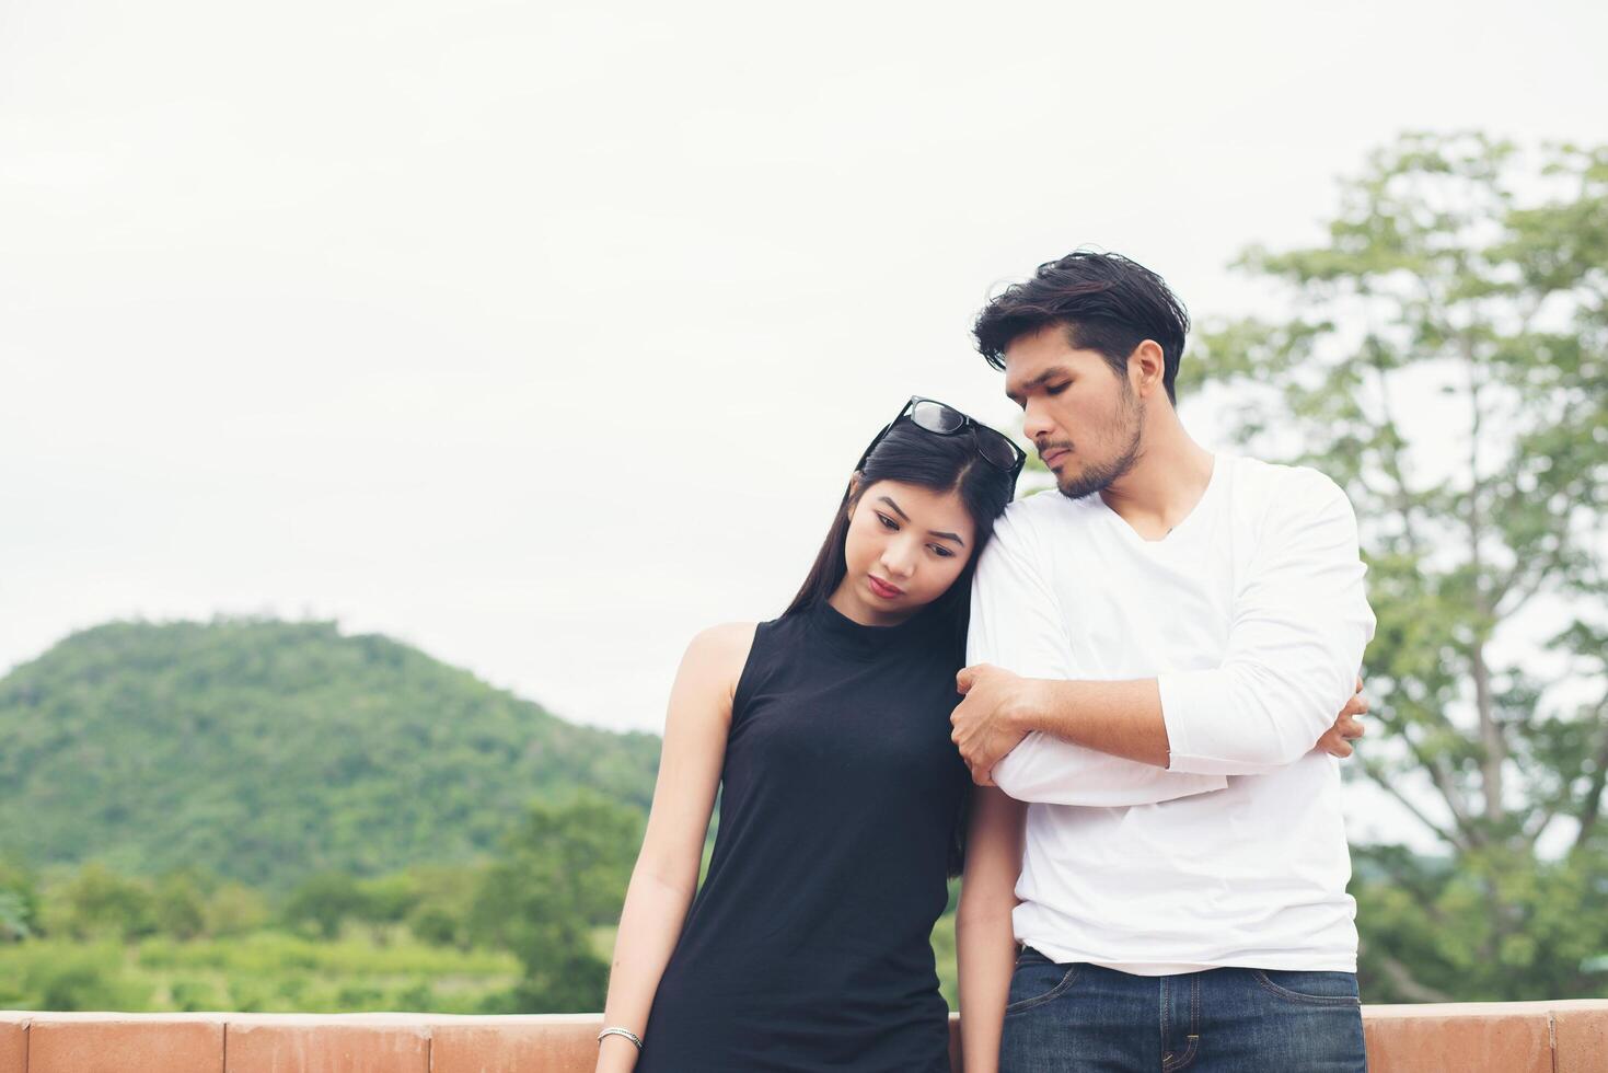
<svg viewBox="0 0 1608 1073">
<path fill-rule="evenodd" d="M 847 573 L 833 606 L 867 626 L 892 626 L 944 595 L 974 545 L 957 492 L 876 481 L 851 507 Z"/>
</svg>

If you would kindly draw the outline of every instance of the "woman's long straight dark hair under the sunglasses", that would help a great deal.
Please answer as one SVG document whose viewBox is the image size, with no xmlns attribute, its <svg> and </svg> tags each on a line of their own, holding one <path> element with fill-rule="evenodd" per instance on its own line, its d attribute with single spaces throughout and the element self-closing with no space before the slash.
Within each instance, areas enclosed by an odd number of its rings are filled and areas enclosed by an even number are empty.
<svg viewBox="0 0 1608 1073">
<path fill-rule="evenodd" d="M 863 494 L 876 481 L 900 481 L 933 489 L 934 492 L 957 491 L 966 513 L 971 515 L 974 539 L 971 542 L 971 558 L 955 582 L 937 597 L 920 615 L 934 616 L 933 627 L 954 645 L 954 661 L 958 669 L 966 660 L 966 626 L 971 621 L 971 574 L 976 573 L 978 558 L 994 536 L 994 520 L 999 518 L 1011 500 L 1011 475 L 1000 470 L 978 454 L 976 441 L 970 428 L 954 436 L 937 436 L 910 421 L 900 418 L 888 430 L 876 449 L 865 458 L 855 473 L 859 483 L 851 481 L 843 492 L 843 504 L 827 529 L 827 541 L 815 555 L 815 565 L 799 586 L 798 595 L 783 615 L 796 615 L 815 605 L 825 603 L 844 574 L 849 573 L 846 549 L 849 542 L 849 512 L 855 497 Z M 970 783 L 962 796 L 960 814 L 955 817 L 954 837 L 950 838 L 949 874 L 958 875 L 965 859 L 966 814 L 971 806 Z"/>
</svg>

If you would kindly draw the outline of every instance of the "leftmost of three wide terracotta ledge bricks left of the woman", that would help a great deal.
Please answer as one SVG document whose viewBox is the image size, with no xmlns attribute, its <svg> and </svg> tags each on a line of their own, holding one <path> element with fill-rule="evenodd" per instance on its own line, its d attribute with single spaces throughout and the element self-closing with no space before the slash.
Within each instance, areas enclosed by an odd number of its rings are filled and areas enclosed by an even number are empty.
<svg viewBox="0 0 1608 1073">
<path fill-rule="evenodd" d="M 224 1018 L 34 1013 L 29 1073 L 224 1073 Z"/>
</svg>

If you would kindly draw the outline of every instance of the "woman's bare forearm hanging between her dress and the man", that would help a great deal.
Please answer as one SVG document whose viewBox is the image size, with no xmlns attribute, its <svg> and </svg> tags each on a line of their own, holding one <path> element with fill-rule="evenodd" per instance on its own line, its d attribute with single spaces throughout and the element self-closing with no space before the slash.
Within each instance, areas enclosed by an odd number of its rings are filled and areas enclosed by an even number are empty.
<svg viewBox="0 0 1608 1073">
<path fill-rule="evenodd" d="M 1016 877 L 1021 874 L 1028 806 L 994 787 L 978 787 L 966 830 L 966 869 L 955 911 L 960 962 L 960 1041 L 966 1073 L 995 1073 L 1005 1001 L 1016 967 Z"/>
</svg>

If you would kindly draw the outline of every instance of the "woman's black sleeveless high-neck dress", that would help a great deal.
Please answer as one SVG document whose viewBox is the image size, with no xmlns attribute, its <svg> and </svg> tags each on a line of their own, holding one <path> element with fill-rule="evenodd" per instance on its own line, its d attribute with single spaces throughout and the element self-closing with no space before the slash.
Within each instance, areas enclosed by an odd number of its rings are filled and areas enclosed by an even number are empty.
<svg viewBox="0 0 1608 1073">
<path fill-rule="evenodd" d="M 638 1073 L 949 1073 L 931 931 L 970 787 L 960 652 L 929 615 L 761 623 L 732 703 L 720 828 Z"/>
</svg>

